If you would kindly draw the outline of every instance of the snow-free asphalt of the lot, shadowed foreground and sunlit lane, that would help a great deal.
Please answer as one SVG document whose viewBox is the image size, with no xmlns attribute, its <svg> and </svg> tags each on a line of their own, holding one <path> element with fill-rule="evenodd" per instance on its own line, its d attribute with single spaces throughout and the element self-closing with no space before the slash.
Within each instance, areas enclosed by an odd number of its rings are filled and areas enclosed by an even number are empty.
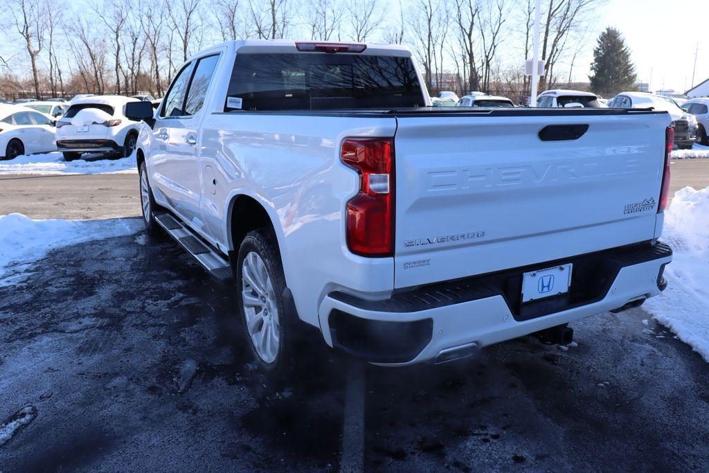
<svg viewBox="0 0 709 473">
<path fill-rule="evenodd" d="M 670 195 L 709 185 L 709 160 L 672 172 Z M 0 177 L 0 208 L 135 218 L 138 178 Z M 314 336 L 272 392 L 231 289 L 167 238 L 63 247 L 24 273 L 0 286 L 3 472 L 709 469 L 709 368 L 642 308 L 572 324 L 569 347 L 526 337 L 406 369 Z"/>
</svg>

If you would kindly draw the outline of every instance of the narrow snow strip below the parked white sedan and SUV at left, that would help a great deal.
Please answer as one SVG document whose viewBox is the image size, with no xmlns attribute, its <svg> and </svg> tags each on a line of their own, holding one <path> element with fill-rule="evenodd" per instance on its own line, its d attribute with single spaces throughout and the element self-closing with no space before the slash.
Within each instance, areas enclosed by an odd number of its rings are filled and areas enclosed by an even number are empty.
<svg viewBox="0 0 709 473">
<path fill-rule="evenodd" d="M 65 161 L 61 152 L 45 152 L 38 155 L 18 156 L 13 160 L 0 161 L 0 174 L 107 174 L 138 172 L 135 157 L 113 160 Z"/>
</svg>

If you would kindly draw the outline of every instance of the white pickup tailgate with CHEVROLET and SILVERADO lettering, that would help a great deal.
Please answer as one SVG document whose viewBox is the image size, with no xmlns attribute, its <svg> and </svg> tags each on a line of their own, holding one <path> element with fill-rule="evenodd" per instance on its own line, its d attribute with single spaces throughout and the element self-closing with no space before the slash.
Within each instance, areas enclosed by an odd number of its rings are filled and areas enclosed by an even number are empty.
<svg viewBox="0 0 709 473">
<path fill-rule="evenodd" d="M 654 238 L 666 113 L 511 115 L 397 117 L 397 288 Z"/>
</svg>

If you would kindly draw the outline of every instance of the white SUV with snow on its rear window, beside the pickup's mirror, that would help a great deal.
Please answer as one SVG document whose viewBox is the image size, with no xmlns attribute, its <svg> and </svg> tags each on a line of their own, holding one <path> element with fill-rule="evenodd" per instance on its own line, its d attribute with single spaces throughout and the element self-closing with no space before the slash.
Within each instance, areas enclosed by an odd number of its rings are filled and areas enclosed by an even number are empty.
<svg viewBox="0 0 709 473">
<path fill-rule="evenodd" d="M 122 96 L 89 96 L 72 101 L 57 121 L 57 149 L 67 161 L 83 153 L 127 157 L 138 140 L 138 122 L 124 114 L 125 104 L 135 102 Z"/>
</svg>

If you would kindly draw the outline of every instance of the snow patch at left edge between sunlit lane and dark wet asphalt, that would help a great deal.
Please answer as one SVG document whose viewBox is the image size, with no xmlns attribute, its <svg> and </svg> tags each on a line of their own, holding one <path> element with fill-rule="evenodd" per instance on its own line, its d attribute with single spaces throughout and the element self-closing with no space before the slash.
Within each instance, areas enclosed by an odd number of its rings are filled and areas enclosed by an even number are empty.
<svg viewBox="0 0 709 473">
<path fill-rule="evenodd" d="M 132 235 L 141 228 L 139 218 L 69 221 L 32 220 L 21 213 L 0 216 L 0 285 L 9 284 L 3 280 L 9 273 L 57 247 Z"/>
</svg>

